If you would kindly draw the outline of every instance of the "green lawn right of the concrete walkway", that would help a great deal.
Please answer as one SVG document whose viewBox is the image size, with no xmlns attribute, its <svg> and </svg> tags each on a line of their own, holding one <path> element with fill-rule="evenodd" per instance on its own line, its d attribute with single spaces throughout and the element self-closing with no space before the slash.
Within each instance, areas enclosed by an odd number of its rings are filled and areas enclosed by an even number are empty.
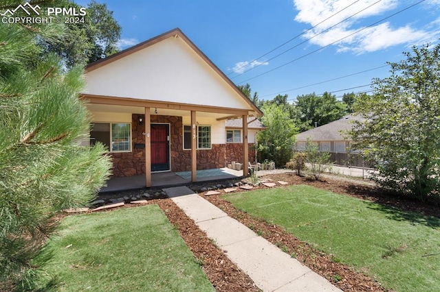
<svg viewBox="0 0 440 292">
<path fill-rule="evenodd" d="M 440 291 L 440 219 L 298 185 L 225 195 L 397 291 Z"/>
</svg>

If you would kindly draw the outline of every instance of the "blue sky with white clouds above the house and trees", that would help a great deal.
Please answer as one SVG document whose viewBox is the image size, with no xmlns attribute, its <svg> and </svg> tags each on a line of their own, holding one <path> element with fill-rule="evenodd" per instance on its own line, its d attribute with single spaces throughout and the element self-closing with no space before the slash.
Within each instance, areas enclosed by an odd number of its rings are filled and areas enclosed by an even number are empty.
<svg viewBox="0 0 440 292">
<path fill-rule="evenodd" d="M 179 27 L 235 84 L 249 83 L 263 99 L 366 92 L 373 77 L 389 75 L 386 62 L 440 38 L 440 0 L 97 1 L 122 26 L 121 49 Z"/>
</svg>

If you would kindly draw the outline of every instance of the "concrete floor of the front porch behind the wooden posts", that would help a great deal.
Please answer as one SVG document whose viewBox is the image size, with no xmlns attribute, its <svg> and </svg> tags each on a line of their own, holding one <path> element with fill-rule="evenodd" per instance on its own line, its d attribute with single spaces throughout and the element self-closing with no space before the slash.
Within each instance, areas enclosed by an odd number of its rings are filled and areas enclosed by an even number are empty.
<svg viewBox="0 0 440 292">
<path fill-rule="evenodd" d="M 228 180 L 231 178 L 241 178 L 243 171 L 236 171 L 223 167 L 222 169 L 205 169 L 197 171 L 197 182 L 209 182 L 214 180 Z M 210 175 L 212 173 L 212 175 Z M 200 175 L 200 177 L 199 177 Z M 174 172 L 151 173 L 151 187 L 185 186 L 191 184 L 190 179 L 182 178 Z M 146 188 L 145 175 L 134 175 L 124 178 L 110 178 L 99 193 L 112 193 L 118 191 L 129 191 Z"/>
</svg>

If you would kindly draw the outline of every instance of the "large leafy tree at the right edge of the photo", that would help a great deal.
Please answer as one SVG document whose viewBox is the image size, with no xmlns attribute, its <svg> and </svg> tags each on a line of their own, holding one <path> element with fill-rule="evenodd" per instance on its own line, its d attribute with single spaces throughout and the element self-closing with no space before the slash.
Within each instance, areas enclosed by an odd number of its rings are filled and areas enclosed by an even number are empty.
<svg viewBox="0 0 440 292">
<path fill-rule="evenodd" d="M 375 94 L 358 99 L 353 147 L 379 171 L 382 186 L 439 202 L 440 45 L 413 47 L 391 65 L 389 77 L 373 80 Z"/>
</svg>

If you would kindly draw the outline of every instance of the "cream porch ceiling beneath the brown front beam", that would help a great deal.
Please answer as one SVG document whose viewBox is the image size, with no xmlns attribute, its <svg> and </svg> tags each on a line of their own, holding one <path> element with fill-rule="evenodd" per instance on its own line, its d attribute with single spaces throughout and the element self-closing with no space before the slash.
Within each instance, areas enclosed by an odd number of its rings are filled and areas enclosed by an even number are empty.
<svg viewBox="0 0 440 292">
<path fill-rule="evenodd" d="M 138 106 L 115 106 L 110 104 L 87 104 L 87 109 L 91 112 L 124 112 L 131 114 L 144 114 L 144 108 Z M 164 116 L 177 116 L 177 117 L 190 117 L 191 112 L 189 110 L 175 110 L 169 108 L 150 108 L 150 114 L 158 114 Z M 197 111 L 197 117 L 210 117 L 214 119 L 225 119 L 230 117 L 231 114 L 221 114 L 213 112 L 199 112 Z"/>
</svg>

